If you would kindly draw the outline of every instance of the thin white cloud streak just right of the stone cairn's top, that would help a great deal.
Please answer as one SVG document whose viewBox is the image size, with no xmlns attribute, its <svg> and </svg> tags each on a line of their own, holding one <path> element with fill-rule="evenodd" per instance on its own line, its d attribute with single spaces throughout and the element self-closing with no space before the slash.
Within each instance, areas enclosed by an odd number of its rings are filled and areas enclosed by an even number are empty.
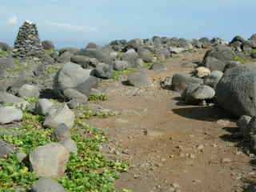
<svg viewBox="0 0 256 192">
<path fill-rule="evenodd" d="M 76 31 L 82 31 L 82 32 L 97 31 L 97 28 L 92 26 L 76 26 L 70 23 L 62 23 L 62 22 L 46 22 L 46 24 L 50 26 L 61 27 L 66 30 L 76 30 Z"/>
</svg>

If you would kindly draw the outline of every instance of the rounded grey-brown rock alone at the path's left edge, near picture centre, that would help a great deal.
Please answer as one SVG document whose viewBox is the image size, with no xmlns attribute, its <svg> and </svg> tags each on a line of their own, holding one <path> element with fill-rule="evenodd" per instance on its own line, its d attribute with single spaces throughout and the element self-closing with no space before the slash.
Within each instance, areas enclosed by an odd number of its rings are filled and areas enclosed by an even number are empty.
<svg viewBox="0 0 256 192">
<path fill-rule="evenodd" d="M 143 70 L 129 74 L 127 78 L 127 83 L 130 86 L 136 87 L 153 86 L 151 78 Z"/>
</svg>

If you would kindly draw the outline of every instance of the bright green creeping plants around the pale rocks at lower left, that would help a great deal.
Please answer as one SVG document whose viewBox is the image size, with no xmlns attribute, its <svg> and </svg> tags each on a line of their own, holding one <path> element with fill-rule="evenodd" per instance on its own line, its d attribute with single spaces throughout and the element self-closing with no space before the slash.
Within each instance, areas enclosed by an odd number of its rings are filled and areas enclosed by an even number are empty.
<svg viewBox="0 0 256 192">
<path fill-rule="evenodd" d="M 24 112 L 22 125 L 15 128 L 15 134 L 2 134 L 0 138 L 13 144 L 17 151 L 27 155 L 37 146 L 56 142 L 51 137 L 52 129 L 44 129 L 40 115 Z M 101 130 L 86 125 L 82 119 L 76 119 L 71 135 L 78 146 L 78 154 L 70 154 L 66 174 L 58 182 L 68 192 L 114 192 L 114 180 L 120 172 L 128 169 L 126 162 L 109 160 L 100 151 L 107 142 Z M 0 192 L 13 192 L 18 188 L 29 191 L 38 179 L 29 169 L 29 162 L 19 162 L 16 154 L 0 158 Z M 129 190 L 122 190 L 127 192 Z"/>
</svg>

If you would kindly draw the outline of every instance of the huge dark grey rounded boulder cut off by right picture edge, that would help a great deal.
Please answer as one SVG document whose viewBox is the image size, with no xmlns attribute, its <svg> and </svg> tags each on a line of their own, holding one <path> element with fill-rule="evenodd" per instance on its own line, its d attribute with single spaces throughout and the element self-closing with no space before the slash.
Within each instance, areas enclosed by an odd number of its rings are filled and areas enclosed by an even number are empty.
<svg viewBox="0 0 256 192">
<path fill-rule="evenodd" d="M 256 64 L 226 70 L 216 88 L 217 102 L 235 116 L 256 115 Z"/>
</svg>

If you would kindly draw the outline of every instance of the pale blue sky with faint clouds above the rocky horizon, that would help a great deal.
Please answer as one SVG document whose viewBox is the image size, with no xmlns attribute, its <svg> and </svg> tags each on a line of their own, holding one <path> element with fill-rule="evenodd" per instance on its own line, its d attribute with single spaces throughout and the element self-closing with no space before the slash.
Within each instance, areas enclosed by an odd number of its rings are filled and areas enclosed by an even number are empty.
<svg viewBox="0 0 256 192">
<path fill-rule="evenodd" d="M 249 38 L 255 8 L 255 0 L 0 0 L 0 41 L 12 45 L 25 20 L 58 47 L 154 35 Z"/>
</svg>

